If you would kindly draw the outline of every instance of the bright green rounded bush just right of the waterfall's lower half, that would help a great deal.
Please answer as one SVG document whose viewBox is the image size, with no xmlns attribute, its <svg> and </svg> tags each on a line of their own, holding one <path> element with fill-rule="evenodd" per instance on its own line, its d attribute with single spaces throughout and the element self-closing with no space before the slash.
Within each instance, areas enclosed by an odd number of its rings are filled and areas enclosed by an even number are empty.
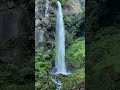
<svg viewBox="0 0 120 90">
<path fill-rule="evenodd" d="M 78 38 L 66 51 L 66 60 L 70 64 L 70 68 L 82 68 L 84 67 L 85 58 L 85 39 Z"/>
</svg>

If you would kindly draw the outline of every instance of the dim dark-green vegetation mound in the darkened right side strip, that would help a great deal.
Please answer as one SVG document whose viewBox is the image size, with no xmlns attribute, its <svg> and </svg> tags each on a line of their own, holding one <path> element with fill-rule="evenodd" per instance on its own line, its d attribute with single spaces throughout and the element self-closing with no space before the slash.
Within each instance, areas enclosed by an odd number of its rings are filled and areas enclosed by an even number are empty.
<svg viewBox="0 0 120 90">
<path fill-rule="evenodd" d="M 87 68 L 92 68 L 87 69 L 87 74 L 91 75 L 88 80 L 90 80 L 89 83 L 91 83 L 90 88 L 97 89 L 100 85 L 99 90 L 107 90 L 109 87 L 114 89 L 119 87 L 120 84 L 119 82 L 115 83 L 115 81 L 119 80 L 120 75 L 118 38 L 120 37 L 120 31 L 119 28 L 115 26 L 101 28 L 100 30 L 102 30 L 102 32 L 97 32 L 89 48 L 90 51 L 92 50 L 93 52 L 87 53 L 87 55 L 89 55 L 89 61 L 86 61 Z M 91 74 L 91 72 L 94 72 L 94 74 Z M 103 81 L 104 84 L 102 83 Z M 95 84 L 96 82 L 99 84 Z"/>
</svg>

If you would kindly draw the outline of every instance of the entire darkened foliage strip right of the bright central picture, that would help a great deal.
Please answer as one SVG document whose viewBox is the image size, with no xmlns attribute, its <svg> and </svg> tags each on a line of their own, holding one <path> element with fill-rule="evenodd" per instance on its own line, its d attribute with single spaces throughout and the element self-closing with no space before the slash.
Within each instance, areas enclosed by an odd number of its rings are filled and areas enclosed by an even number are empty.
<svg viewBox="0 0 120 90">
<path fill-rule="evenodd" d="M 86 88 L 88 90 L 120 89 L 118 3 L 117 0 L 86 1 Z"/>
</svg>

